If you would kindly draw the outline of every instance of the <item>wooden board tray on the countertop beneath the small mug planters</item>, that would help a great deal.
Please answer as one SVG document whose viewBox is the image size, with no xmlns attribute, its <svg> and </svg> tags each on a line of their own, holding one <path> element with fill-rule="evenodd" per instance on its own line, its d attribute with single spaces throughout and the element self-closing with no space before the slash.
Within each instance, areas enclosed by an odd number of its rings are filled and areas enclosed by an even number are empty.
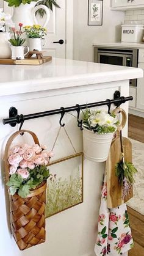
<svg viewBox="0 0 144 256">
<path fill-rule="evenodd" d="M 21 60 L 13 60 L 13 59 L 0 59 L 0 64 L 7 65 L 41 65 L 48 61 L 52 60 L 51 56 L 42 57 L 41 59 L 31 58 L 31 59 L 21 59 Z"/>
</svg>

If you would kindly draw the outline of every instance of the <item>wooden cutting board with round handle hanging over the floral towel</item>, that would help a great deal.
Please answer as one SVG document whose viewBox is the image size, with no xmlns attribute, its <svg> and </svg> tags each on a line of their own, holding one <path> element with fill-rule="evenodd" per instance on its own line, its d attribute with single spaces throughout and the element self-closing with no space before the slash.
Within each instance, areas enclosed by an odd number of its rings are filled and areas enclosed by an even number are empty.
<svg viewBox="0 0 144 256">
<path fill-rule="evenodd" d="M 120 109 L 120 112 L 123 109 Z M 121 160 L 121 143 L 120 143 L 120 130 L 124 127 L 126 123 L 126 113 L 121 112 L 123 115 L 123 120 L 120 129 L 117 131 L 117 137 L 113 139 L 110 146 L 109 157 L 106 161 L 106 171 L 107 171 L 107 207 L 115 208 L 123 203 L 127 202 L 133 197 L 133 189 L 131 188 L 130 193 L 127 197 L 122 198 L 123 191 L 122 186 L 118 182 L 118 177 L 115 175 L 115 164 L 119 163 Z M 126 162 L 132 163 L 132 144 L 128 138 L 123 137 L 123 151 Z"/>
</svg>

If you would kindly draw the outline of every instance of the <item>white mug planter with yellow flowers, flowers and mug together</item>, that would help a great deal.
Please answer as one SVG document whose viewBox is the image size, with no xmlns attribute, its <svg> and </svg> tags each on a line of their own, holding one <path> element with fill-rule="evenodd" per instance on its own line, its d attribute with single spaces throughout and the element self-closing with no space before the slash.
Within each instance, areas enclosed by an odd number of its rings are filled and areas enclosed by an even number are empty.
<svg viewBox="0 0 144 256">
<path fill-rule="evenodd" d="M 46 35 L 46 28 L 36 24 L 33 26 L 25 26 L 24 32 L 26 32 L 26 35 L 28 37 L 29 50 L 41 51 L 41 42 L 44 41 L 42 46 L 44 46 L 46 43 L 46 40 L 44 38 L 44 36 Z"/>
</svg>

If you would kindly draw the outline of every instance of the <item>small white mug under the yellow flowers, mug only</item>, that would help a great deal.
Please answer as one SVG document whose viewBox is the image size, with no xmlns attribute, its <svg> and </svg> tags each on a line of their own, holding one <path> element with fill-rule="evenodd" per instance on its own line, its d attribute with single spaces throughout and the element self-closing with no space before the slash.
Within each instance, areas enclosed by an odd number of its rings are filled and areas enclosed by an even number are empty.
<svg viewBox="0 0 144 256">
<path fill-rule="evenodd" d="M 29 51 L 41 51 L 42 47 L 46 44 L 45 38 L 28 38 Z"/>
</svg>

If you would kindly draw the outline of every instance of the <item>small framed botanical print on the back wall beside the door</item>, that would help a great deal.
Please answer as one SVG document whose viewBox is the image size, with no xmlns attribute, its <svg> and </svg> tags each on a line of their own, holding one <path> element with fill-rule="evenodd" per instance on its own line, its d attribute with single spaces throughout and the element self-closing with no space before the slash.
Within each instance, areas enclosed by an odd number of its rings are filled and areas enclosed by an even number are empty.
<svg viewBox="0 0 144 256">
<path fill-rule="evenodd" d="M 88 26 L 103 25 L 103 0 L 88 0 Z"/>
</svg>

